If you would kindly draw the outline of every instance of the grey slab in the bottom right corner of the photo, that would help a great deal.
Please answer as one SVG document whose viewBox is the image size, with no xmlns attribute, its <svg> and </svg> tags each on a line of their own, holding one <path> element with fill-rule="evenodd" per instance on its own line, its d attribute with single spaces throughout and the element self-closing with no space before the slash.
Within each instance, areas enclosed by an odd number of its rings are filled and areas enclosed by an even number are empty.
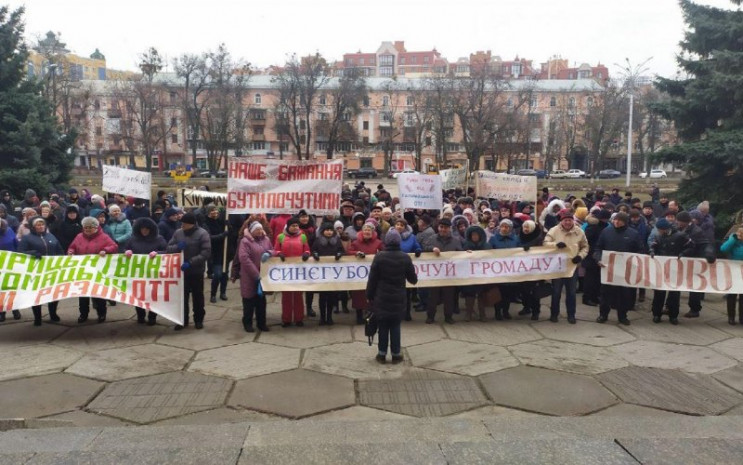
<svg viewBox="0 0 743 465">
<path fill-rule="evenodd" d="M 657 465 L 740 465 L 743 442 L 717 438 L 619 439 L 640 463 Z"/>
</svg>

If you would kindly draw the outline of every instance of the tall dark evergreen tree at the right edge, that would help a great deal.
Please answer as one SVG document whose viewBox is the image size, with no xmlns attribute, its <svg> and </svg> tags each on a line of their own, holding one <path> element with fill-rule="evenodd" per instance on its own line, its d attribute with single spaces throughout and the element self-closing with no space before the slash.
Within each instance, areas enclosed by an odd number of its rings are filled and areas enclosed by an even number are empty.
<svg viewBox="0 0 743 465">
<path fill-rule="evenodd" d="M 683 164 L 679 199 L 709 200 L 719 231 L 743 206 L 743 12 L 679 3 L 687 31 L 677 61 L 685 75 L 656 81 L 670 96 L 656 110 L 674 122 L 681 143 L 655 159 Z"/>
</svg>

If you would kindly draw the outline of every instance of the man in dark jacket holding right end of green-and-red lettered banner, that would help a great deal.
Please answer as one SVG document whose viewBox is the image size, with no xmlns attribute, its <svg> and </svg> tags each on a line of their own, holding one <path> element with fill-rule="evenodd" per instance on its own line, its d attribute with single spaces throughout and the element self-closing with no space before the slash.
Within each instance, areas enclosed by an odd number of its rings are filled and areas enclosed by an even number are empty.
<svg viewBox="0 0 743 465">
<path fill-rule="evenodd" d="M 186 213 L 181 218 L 181 229 L 173 234 L 168 242 L 168 253 L 183 252 L 183 326 L 176 325 L 180 331 L 188 326 L 188 297 L 193 295 L 193 320 L 196 329 L 204 327 L 204 271 L 212 251 L 209 233 L 196 226 L 193 213 Z"/>
</svg>

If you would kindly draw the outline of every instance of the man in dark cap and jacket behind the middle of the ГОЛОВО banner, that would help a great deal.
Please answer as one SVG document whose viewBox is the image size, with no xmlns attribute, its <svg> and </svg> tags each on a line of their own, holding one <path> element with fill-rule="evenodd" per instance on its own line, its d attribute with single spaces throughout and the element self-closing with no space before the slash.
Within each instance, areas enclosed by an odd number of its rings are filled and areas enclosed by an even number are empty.
<svg viewBox="0 0 743 465">
<path fill-rule="evenodd" d="M 658 234 L 655 240 L 650 244 L 650 256 L 656 255 L 662 257 L 685 257 L 694 252 L 694 242 L 689 236 L 680 231 L 674 232 L 671 223 L 665 218 L 658 220 L 655 226 Z M 679 291 L 653 291 L 653 323 L 660 323 L 663 313 L 663 305 L 668 307 L 668 319 L 672 325 L 678 324 L 679 301 L 681 292 Z"/>
</svg>

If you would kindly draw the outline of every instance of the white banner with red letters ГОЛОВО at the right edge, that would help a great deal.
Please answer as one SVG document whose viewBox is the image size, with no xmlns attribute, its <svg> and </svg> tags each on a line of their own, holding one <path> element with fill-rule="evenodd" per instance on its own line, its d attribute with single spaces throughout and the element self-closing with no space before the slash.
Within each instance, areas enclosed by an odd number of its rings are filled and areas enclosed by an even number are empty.
<svg viewBox="0 0 743 465">
<path fill-rule="evenodd" d="M 743 294 L 743 261 L 604 252 L 601 282 L 663 291 Z"/>
</svg>

